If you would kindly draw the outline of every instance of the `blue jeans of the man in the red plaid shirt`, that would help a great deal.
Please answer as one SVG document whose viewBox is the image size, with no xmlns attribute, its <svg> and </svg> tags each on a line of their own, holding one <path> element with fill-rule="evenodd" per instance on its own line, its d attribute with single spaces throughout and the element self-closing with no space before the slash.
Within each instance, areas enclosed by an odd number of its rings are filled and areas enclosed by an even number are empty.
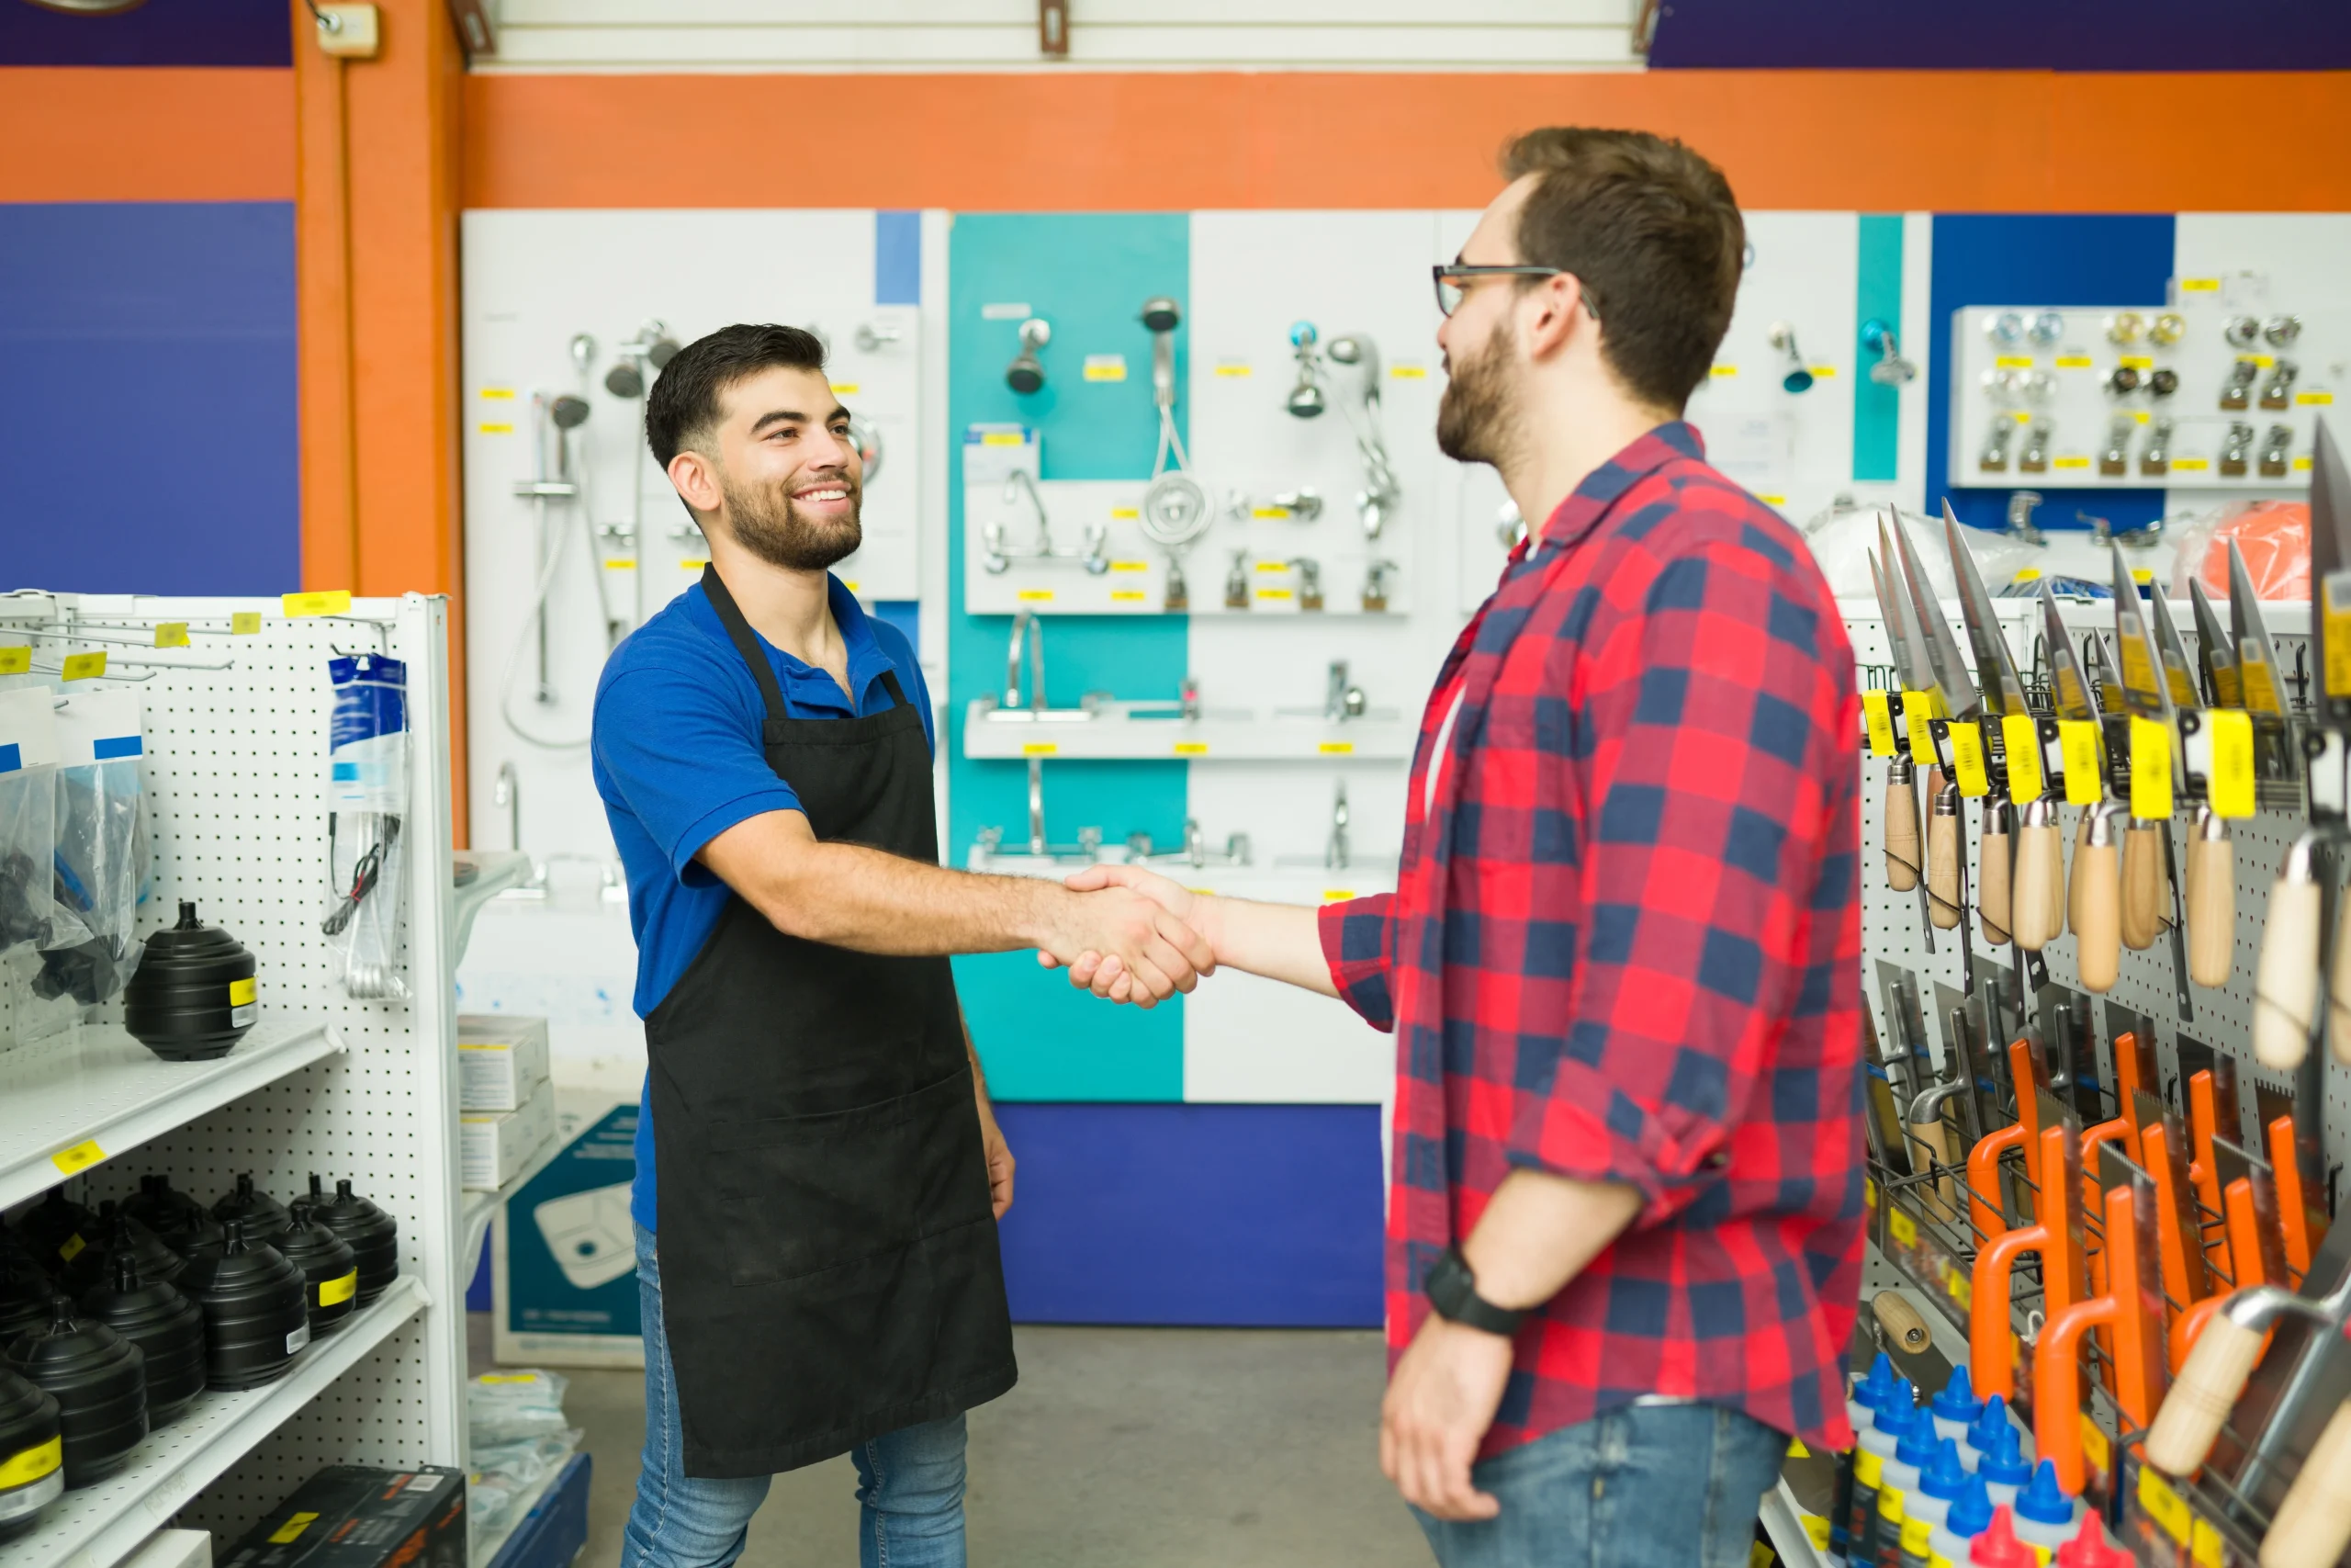
<svg viewBox="0 0 2351 1568">
<path fill-rule="evenodd" d="M 1620 1406 L 1469 1469 L 1502 1505 L 1420 1509 L 1444 1568 L 1744 1568 L 1787 1434 L 1721 1406 Z"/>
</svg>

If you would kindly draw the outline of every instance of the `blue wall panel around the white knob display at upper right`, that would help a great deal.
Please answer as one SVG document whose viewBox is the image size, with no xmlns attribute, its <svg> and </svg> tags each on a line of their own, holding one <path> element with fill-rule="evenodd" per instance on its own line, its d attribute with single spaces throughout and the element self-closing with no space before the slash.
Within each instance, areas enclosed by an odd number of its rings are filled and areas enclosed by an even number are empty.
<svg viewBox="0 0 2351 1568">
<path fill-rule="evenodd" d="M 1928 346 L 1933 374 L 1925 404 L 1925 503 L 1944 494 L 1958 520 L 1977 529 L 2008 524 L 2015 489 L 1951 489 L 1965 475 L 1951 458 L 1951 313 L 1961 306 L 2163 306 L 2172 277 L 2172 219 L 2076 214 L 1935 214 Z M 2048 491 L 2041 527 L 2078 527 L 2088 510 L 2135 529 L 2163 515 L 2161 489 Z"/>
</svg>

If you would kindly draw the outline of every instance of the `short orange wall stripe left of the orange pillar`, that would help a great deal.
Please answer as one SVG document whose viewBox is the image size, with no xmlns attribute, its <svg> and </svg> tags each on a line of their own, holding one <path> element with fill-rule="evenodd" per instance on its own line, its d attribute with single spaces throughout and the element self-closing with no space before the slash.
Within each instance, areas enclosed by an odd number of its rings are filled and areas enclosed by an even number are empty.
<svg viewBox="0 0 2351 1568">
<path fill-rule="evenodd" d="M 0 68 L 0 202 L 292 202 L 294 73 Z"/>
</svg>

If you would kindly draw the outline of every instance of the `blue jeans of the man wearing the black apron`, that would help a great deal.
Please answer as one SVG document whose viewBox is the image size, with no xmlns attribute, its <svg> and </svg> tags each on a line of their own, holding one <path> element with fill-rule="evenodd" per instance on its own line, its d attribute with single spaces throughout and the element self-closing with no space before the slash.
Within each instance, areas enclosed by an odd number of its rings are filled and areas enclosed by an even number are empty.
<svg viewBox="0 0 2351 1568">
<path fill-rule="evenodd" d="M 769 1476 L 708 1481 L 684 1472 L 677 1375 L 661 1319 L 654 1232 L 637 1227 L 644 1312 L 644 1467 L 621 1535 L 621 1568 L 729 1568 L 743 1556 Z M 964 1568 L 964 1418 L 903 1427 L 851 1450 L 858 1467 L 860 1568 Z"/>
</svg>

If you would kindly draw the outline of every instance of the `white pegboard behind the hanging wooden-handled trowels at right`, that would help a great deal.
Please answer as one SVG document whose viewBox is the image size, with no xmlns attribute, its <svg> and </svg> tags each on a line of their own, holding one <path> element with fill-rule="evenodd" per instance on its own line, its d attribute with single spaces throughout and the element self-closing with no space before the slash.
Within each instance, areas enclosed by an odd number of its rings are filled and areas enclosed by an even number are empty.
<svg viewBox="0 0 2351 1568">
<path fill-rule="evenodd" d="M 1862 607 L 1855 602 L 1843 604 L 1846 611 L 1846 635 L 1853 639 L 1855 658 L 1869 665 L 1888 665 L 1890 651 L 1886 642 L 1886 628 L 1878 618 L 1876 604 Z M 2114 658 L 2114 609 L 2106 602 L 2097 604 L 2067 604 L 2062 607 L 2067 628 L 2071 632 L 2076 658 L 2081 639 L 2085 635 L 2099 635 L 2106 644 L 2109 661 Z M 2226 604 L 2219 607 L 2226 616 Z M 1954 635 L 1965 646 L 1965 630 L 1961 630 L 1958 607 L 1944 604 L 1944 618 L 1951 621 Z M 2175 623 L 2179 635 L 2196 646 L 2193 616 L 2186 614 L 2184 604 L 2175 604 Z M 2036 602 L 2001 602 L 2001 621 L 2008 632 L 2010 654 L 2017 661 L 2022 675 L 2031 675 L 2034 642 L 2041 635 L 2041 611 Z M 2278 649 L 2278 663 L 2285 672 L 2297 668 L 2304 656 L 2306 632 L 2309 632 L 2309 609 L 2288 604 L 2266 604 L 2264 621 L 2269 623 L 2271 637 Z M 1883 1016 L 1883 997 L 1876 983 L 1876 961 L 1888 959 L 1909 969 L 1918 976 L 1923 994 L 1928 999 L 1928 1011 L 1933 1011 L 1933 987 L 1947 985 L 1961 987 L 1961 931 L 1935 931 L 1935 952 L 1925 952 L 1925 919 L 1918 905 L 1918 893 L 1895 893 L 1886 886 L 1886 762 L 1860 757 L 1862 766 L 1862 990 L 1869 999 L 1869 1009 L 1878 1020 L 1878 1037 L 1893 1039 L 1888 1020 Z M 1918 769 L 1921 778 L 1921 823 L 1925 820 L 1925 797 L 1923 778 L 1925 769 Z M 1980 872 L 1980 839 L 1982 839 L 1982 816 L 1975 802 L 1965 809 L 1968 823 L 1968 889 L 1982 886 Z M 2071 806 L 2059 806 L 2059 835 L 2067 846 L 2067 867 L 2071 870 L 2071 846 L 2074 835 L 2081 825 L 2081 811 Z M 2295 842 L 2304 827 L 2304 818 L 2297 811 L 2262 809 L 2248 820 L 2231 823 L 2231 839 L 2236 844 L 2236 964 L 2229 976 L 2229 985 L 2219 990 L 2208 990 L 2201 985 L 2189 985 L 2189 1004 L 2193 1009 L 2191 1020 L 2179 1018 L 2177 990 L 2172 983 L 2172 945 L 2170 936 L 2156 940 L 2156 945 L 2144 952 L 2132 952 L 2123 947 L 2121 973 L 2104 997 L 2092 997 L 2092 1018 L 2097 1025 L 2097 1037 L 2102 1046 L 2111 1044 L 2111 1032 L 2106 1027 L 2106 1001 L 2116 1001 L 2135 1013 L 2139 1013 L 2154 1032 L 2156 1041 L 2156 1065 L 2165 1084 L 2170 1084 L 2179 1072 L 2177 1039 L 2186 1034 L 2189 1039 L 2210 1046 L 2212 1051 L 2229 1056 L 2238 1065 L 2238 1107 L 2245 1126 L 2238 1128 L 2238 1138 L 2245 1147 L 2259 1150 L 2257 1128 L 2257 1095 L 2255 1088 L 2271 1088 L 2276 1093 L 2292 1093 L 2295 1084 L 2290 1074 L 2271 1072 L 2252 1060 L 2252 971 L 2259 961 L 2262 950 L 2262 926 L 2269 910 L 2269 889 L 2278 877 L 2278 865 L 2285 858 L 2285 849 Z M 2186 816 L 2172 820 L 2172 863 L 2182 865 L 2186 856 Z M 1968 940 L 1975 943 L 1977 976 L 1987 969 L 2010 969 L 2015 966 L 2012 947 L 1989 947 L 1982 940 L 1982 926 L 1977 924 L 1972 910 L 1968 922 Z M 2074 961 L 2074 936 L 2067 933 L 2050 943 L 2043 954 L 2048 964 L 2048 978 L 2057 985 L 2081 990 L 2081 971 Z M 1942 1056 L 1942 1030 L 1928 1020 L 1928 1039 L 1935 1056 Z M 2005 1044 L 2005 1041 L 1996 1041 Z M 2111 1060 L 2111 1058 L 2102 1058 Z M 2327 1166 L 2344 1164 L 2351 1157 L 2351 1070 L 2339 1063 L 2327 1063 L 2325 1067 L 2325 1147 Z"/>
</svg>

